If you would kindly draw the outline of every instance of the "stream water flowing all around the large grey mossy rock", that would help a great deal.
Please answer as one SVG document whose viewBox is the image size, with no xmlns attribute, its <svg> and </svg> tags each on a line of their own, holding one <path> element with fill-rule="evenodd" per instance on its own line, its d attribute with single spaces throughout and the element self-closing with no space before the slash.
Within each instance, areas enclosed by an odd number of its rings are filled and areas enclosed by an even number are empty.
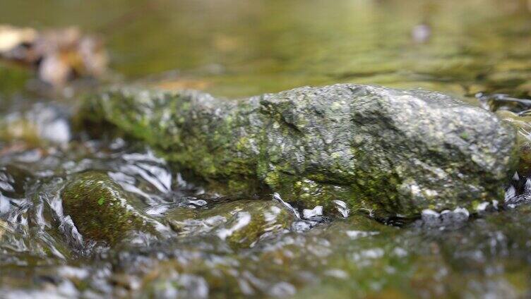
<svg viewBox="0 0 531 299">
<path fill-rule="evenodd" d="M 479 104 L 531 97 L 530 11 L 525 0 L 3 0 L 0 20 L 99 32 L 112 61 L 102 85 L 243 97 L 371 83 Z M 322 212 L 281 194 L 234 200 L 145 145 L 74 130 L 92 85 L 42 93 L 31 76 L 0 65 L 0 298 L 531 296 L 525 178 L 508 202 L 407 221 L 340 201 Z M 118 183 L 155 231 L 84 238 L 62 195 L 85 171 Z"/>
</svg>

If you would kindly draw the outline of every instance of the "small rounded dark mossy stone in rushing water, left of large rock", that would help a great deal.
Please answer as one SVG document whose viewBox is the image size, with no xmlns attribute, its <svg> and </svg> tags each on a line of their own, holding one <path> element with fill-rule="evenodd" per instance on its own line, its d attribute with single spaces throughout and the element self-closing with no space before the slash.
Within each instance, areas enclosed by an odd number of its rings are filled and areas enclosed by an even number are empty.
<svg viewBox="0 0 531 299">
<path fill-rule="evenodd" d="M 155 233 L 155 221 L 131 205 L 124 190 L 107 174 L 88 171 L 66 184 L 64 214 L 72 218 L 83 238 L 114 245 L 131 231 Z"/>
</svg>

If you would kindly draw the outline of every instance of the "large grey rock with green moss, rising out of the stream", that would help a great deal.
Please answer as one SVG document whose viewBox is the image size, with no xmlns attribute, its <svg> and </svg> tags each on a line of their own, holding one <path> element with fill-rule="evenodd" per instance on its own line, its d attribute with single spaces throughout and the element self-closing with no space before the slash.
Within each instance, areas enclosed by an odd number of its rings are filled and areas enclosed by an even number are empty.
<svg viewBox="0 0 531 299">
<path fill-rule="evenodd" d="M 78 116 L 112 123 L 225 193 L 266 185 L 309 207 L 472 207 L 500 199 L 518 160 L 511 126 L 425 90 L 339 84 L 226 100 L 127 87 Z"/>
</svg>

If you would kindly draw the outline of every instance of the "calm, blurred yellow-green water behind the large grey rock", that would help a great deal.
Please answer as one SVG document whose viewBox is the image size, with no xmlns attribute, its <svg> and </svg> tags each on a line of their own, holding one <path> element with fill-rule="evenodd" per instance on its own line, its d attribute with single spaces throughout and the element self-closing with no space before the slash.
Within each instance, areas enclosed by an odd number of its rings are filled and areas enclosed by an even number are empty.
<svg viewBox="0 0 531 299">
<path fill-rule="evenodd" d="M 1 23 L 100 33 L 112 69 L 239 97 L 372 83 L 531 89 L 527 0 L 3 0 Z M 415 39 L 413 35 L 421 35 Z"/>
</svg>

